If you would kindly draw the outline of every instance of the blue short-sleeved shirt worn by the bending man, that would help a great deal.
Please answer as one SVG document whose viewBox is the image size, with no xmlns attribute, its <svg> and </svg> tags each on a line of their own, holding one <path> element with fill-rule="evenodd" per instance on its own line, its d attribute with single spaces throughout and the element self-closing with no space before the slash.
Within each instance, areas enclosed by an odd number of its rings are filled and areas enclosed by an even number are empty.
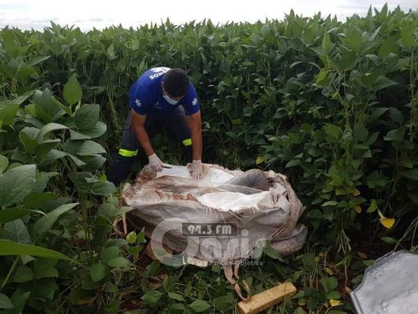
<svg viewBox="0 0 418 314">
<path fill-rule="evenodd" d="M 171 105 L 164 99 L 161 82 L 168 70 L 170 68 L 161 67 L 151 68 L 144 72 L 130 88 L 129 107 L 142 115 L 149 113 L 167 114 L 175 110 L 179 105 L 185 108 L 187 115 L 199 112 L 199 102 L 192 82 L 189 84 L 189 90 L 186 92 L 185 97 L 176 105 Z"/>
</svg>

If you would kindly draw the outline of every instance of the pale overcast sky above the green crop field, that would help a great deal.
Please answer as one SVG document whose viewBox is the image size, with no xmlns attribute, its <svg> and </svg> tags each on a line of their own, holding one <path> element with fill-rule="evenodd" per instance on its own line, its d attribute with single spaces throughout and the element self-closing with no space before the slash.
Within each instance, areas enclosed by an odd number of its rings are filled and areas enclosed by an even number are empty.
<svg viewBox="0 0 418 314">
<path fill-rule="evenodd" d="M 354 13 L 366 15 L 369 6 L 382 8 L 376 0 L 0 0 L 0 28 L 6 25 L 21 29 L 42 29 L 49 21 L 77 25 L 83 30 L 102 29 L 112 24 L 137 27 L 150 22 L 175 24 L 210 18 L 215 23 L 256 22 L 282 19 L 293 8 L 295 13 L 312 16 L 336 15 L 345 20 Z M 404 11 L 418 10 L 418 0 L 387 1 L 389 9 L 401 6 Z"/>
</svg>

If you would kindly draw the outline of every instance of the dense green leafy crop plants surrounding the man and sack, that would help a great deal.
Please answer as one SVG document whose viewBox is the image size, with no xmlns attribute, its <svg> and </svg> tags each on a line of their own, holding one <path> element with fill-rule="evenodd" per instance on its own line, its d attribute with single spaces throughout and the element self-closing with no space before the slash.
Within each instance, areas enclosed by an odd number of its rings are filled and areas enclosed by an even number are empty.
<svg viewBox="0 0 418 314">
<path fill-rule="evenodd" d="M 144 263 L 144 234 L 105 177 L 130 84 L 185 68 L 199 94 L 204 161 L 287 174 L 309 241 L 242 267 L 251 294 L 298 293 L 268 313 L 352 313 L 373 259 L 417 250 L 418 13 L 338 22 L 73 27 L 0 31 L 0 311 L 233 313 L 219 266 Z M 179 146 L 153 137 L 164 161 Z M 144 160 L 139 160 L 139 167 Z"/>
</svg>

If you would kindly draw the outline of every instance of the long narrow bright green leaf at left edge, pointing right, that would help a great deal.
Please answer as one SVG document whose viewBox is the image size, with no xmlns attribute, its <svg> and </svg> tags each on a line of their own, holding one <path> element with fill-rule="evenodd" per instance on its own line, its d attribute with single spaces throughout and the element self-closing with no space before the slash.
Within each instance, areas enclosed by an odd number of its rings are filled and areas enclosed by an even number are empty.
<svg viewBox="0 0 418 314">
<path fill-rule="evenodd" d="M 56 258 L 57 260 L 70 260 L 68 256 L 53 250 L 49 250 L 48 248 L 42 248 L 41 246 L 31 246 L 28 244 L 17 244 L 12 241 L 0 239 L 0 256 L 3 255 L 32 255 Z"/>
</svg>

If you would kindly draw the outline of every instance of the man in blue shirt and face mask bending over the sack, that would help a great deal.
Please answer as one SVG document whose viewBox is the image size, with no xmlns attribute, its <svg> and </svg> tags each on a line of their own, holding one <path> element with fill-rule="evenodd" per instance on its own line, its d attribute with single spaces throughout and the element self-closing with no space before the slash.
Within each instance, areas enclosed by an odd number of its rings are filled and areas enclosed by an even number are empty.
<svg viewBox="0 0 418 314">
<path fill-rule="evenodd" d="M 129 107 L 109 181 L 120 184 L 130 174 L 139 146 L 148 156 L 148 165 L 157 172 L 162 170 L 162 160 L 148 137 L 148 130 L 156 122 L 183 143 L 187 161 L 192 162 L 192 177 L 201 179 L 201 112 L 196 90 L 185 71 L 164 67 L 147 70 L 130 89 Z"/>
</svg>

